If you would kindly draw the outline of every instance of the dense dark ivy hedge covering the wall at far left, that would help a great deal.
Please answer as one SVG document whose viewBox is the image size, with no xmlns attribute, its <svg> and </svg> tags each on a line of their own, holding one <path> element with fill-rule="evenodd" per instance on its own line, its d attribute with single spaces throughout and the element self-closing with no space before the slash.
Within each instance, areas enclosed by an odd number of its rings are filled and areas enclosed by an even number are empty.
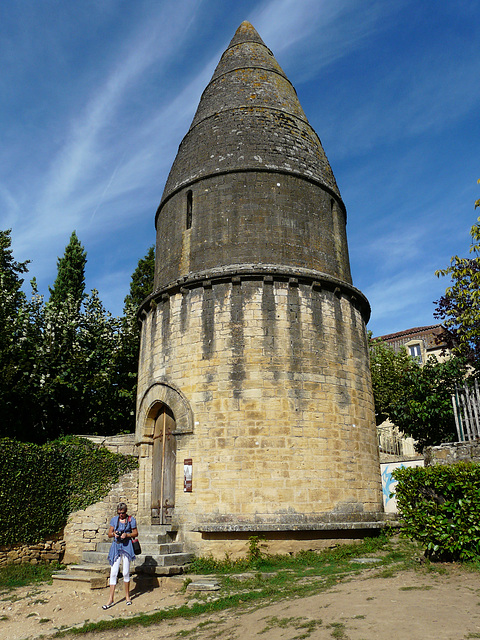
<svg viewBox="0 0 480 640">
<path fill-rule="evenodd" d="M 89 440 L 68 436 L 36 445 L 0 440 L 0 544 L 35 543 L 58 533 L 68 515 L 105 496 L 137 466 Z"/>
</svg>

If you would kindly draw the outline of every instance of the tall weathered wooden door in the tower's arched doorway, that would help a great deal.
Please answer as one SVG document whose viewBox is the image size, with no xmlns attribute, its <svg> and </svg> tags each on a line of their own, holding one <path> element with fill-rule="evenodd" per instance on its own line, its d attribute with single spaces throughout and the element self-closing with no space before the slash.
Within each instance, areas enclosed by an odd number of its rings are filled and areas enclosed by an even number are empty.
<svg viewBox="0 0 480 640">
<path fill-rule="evenodd" d="M 164 405 L 153 433 L 152 523 L 170 524 L 175 507 L 175 418 Z"/>
</svg>

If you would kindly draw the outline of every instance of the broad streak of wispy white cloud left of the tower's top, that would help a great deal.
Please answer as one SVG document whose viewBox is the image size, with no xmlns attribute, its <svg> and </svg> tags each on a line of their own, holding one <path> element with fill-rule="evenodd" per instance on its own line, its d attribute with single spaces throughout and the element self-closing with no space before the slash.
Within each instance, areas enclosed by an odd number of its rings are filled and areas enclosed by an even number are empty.
<svg viewBox="0 0 480 640">
<path fill-rule="evenodd" d="M 145 155 L 145 149 L 138 148 L 143 121 L 123 130 L 118 116 L 136 91 L 145 90 L 142 82 L 150 67 L 155 64 L 161 75 L 162 67 L 182 47 L 198 6 L 197 0 L 181 0 L 175 5 L 163 3 L 149 12 L 148 21 L 138 25 L 123 45 L 114 67 L 91 87 L 84 105 L 71 119 L 58 124 L 56 135 L 63 142 L 51 161 L 38 168 L 30 202 L 25 202 L 23 195 L 23 205 L 28 204 L 32 216 L 28 224 L 17 219 L 15 242 L 20 252 L 34 239 L 58 246 L 59 237 L 64 238 L 73 228 L 88 227 L 102 204 L 145 185 L 152 170 L 143 173 L 143 180 L 130 181 L 123 173 L 120 177 L 125 180 L 117 181 L 127 149 L 130 166 L 139 155 Z M 156 160 L 151 157 L 150 164 Z"/>
</svg>

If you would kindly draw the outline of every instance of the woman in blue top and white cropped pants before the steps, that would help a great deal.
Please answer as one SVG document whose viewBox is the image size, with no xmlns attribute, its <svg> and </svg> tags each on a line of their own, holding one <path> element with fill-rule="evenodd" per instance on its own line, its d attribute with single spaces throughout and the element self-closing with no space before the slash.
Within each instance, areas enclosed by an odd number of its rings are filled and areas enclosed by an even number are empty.
<svg viewBox="0 0 480 640">
<path fill-rule="evenodd" d="M 113 538 L 110 551 L 108 553 L 108 561 L 111 566 L 110 570 L 110 598 L 102 609 L 110 609 L 113 606 L 115 596 L 115 586 L 117 584 L 118 571 L 120 562 L 122 564 L 123 582 L 125 584 L 125 600 L 128 604 L 132 604 L 130 600 L 130 562 L 135 560 L 133 551 L 132 538 L 138 535 L 137 521 L 134 517 L 127 514 L 127 505 L 119 502 L 117 505 L 117 515 L 110 520 L 110 529 L 108 537 Z"/>
</svg>

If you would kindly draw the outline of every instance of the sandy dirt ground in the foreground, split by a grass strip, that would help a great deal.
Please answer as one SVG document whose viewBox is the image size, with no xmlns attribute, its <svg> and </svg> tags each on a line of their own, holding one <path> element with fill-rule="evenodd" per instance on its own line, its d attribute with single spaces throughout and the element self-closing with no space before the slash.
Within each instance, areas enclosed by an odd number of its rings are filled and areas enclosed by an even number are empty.
<svg viewBox="0 0 480 640">
<path fill-rule="evenodd" d="M 348 580 L 348 581 L 347 581 Z M 0 637 L 3 640 L 48 637 L 59 628 L 86 620 L 124 618 L 185 604 L 191 595 L 180 591 L 183 579 L 167 578 L 151 590 L 135 589 L 126 606 L 117 588 L 117 604 L 108 611 L 106 589 L 81 590 L 59 583 L 18 589 L 0 596 Z M 123 587 L 123 585 L 120 585 Z M 236 608 L 189 620 L 175 619 L 150 627 L 97 632 L 85 640 L 463 640 L 480 638 L 480 575 L 458 565 L 445 573 L 403 571 L 380 577 L 368 568 L 355 577 L 314 596 L 267 606 Z"/>
</svg>

